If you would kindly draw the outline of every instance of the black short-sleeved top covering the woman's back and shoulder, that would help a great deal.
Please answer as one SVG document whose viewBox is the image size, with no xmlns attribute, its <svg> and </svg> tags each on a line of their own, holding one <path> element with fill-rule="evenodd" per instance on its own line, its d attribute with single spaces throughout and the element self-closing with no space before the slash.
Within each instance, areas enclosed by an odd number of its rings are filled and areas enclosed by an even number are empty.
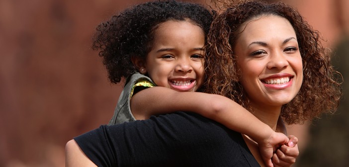
<svg viewBox="0 0 349 167">
<path fill-rule="evenodd" d="M 190 112 L 101 126 L 75 139 L 87 155 L 97 155 L 94 160 L 127 163 L 132 155 L 139 164 L 155 166 L 172 162 L 176 166 L 259 167 L 240 133 Z M 96 154 L 98 150 L 104 152 Z"/>
</svg>

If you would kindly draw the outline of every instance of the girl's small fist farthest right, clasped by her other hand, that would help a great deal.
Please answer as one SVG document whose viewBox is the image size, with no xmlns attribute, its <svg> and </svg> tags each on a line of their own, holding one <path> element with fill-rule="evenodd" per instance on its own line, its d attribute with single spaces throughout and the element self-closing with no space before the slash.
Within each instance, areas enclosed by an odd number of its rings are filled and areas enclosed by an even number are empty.
<svg viewBox="0 0 349 167">
<path fill-rule="evenodd" d="M 272 164 L 274 167 L 290 167 L 296 162 L 299 155 L 298 138 L 295 136 L 288 136 L 290 139 L 287 144 L 282 145 L 272 156 Z"/>
</svg>

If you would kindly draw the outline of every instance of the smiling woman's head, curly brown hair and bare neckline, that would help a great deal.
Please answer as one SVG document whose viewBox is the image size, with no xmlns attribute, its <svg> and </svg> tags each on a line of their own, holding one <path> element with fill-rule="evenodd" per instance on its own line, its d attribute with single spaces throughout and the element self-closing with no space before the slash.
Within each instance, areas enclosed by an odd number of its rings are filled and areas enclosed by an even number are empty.
<svg viewBox="0 0 349 167">
<path fill-rule="evenodd" d="M 290 6 L 233 5 L 214 20 L 208 42 L 208 92 L 233 99 L 271 128 L 279 115 L 293 124 L 336 110 L 341 87 L 330 56 Z M 261 164 L 254 141 L 244 140 Z"/>
</svg>

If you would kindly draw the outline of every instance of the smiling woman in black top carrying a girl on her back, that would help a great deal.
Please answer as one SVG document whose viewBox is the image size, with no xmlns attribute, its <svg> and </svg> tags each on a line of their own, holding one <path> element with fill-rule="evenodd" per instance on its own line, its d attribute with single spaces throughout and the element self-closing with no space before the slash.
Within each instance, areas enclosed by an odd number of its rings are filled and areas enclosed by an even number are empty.
<svg viewBox="0 0 349 167">
<path fill-rule="evenodd" d="M 215 19 L 209 44 L 206 92 L 234 99 L 272 129 L 279 115 L 298 123 L 338 105 L 330 57 L 290 6 L 232 5 Z M 193 113 L 101 126 L 75 140 L 100 166 L 265 166 L 248 136 Z M 67 162 L 91 163 L 79 146 L 67 144 Z"/>
</svg>

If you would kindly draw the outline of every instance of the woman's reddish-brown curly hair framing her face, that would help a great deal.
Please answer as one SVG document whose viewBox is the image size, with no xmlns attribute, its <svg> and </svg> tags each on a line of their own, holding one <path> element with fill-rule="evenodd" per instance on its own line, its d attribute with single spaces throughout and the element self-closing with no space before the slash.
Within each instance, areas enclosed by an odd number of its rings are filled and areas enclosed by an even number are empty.
<svg viewBox="0 0 349 167">
<path fill-rule="evenodd" d="M 268 15 L 281 16 L 291 23 L 303 62 L 302 86 L 295 98 L 282 106 L 283 120 L 287 124 L 303 123 L 320 117 L 323 112 L 335 112 L 342 95 L 339 83 L 342 75 L 333 69 L 319 32 L 313 30 L 297 10 L 281 2 L 238 2 L 214 18 L 206 47 L 206 92 L 224 95 L 251 110 L 239 83 L 233 48 L 247 21 Z"/>
</svg>

